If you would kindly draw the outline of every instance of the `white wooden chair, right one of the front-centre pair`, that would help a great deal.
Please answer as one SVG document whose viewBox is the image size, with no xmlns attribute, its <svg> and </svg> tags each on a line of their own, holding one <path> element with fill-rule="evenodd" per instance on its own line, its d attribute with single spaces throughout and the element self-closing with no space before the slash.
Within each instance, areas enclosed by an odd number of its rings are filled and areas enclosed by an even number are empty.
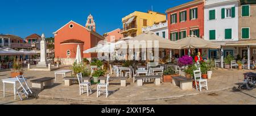
<svg viewBox="0 0 256 116">
<path fill-rule="evenodd" d="M 100 96 L 101 93 L 106 94 L 106 98 L 108 98 L 109 96 L 108 86 L 109 86 L 109 74 L 107 76 L 106 83 L 104 84 L 100 83 L 97 85 L 97 98 L 98 96 Z"/>
</svg>

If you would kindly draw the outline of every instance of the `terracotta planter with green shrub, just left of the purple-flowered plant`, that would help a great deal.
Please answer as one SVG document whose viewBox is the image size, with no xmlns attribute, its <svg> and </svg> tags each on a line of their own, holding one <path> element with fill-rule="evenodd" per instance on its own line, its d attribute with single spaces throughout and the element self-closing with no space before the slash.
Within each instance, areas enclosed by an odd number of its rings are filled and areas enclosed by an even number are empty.
<svg viewBox="0 0 256 116">
<path fill-rule="evenodd" d="M 172 77 L 179 76 L 176 74 L 174 69 L 168 68 L 163 72 L 163 82 L 172 82 Z"/>
</svg>

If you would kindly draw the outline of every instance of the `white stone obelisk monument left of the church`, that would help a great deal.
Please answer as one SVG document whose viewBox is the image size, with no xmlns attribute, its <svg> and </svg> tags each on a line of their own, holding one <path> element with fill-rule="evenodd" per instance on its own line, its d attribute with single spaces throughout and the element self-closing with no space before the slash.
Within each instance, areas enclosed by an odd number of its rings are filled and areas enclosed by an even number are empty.
<svg viewBox="0 0 256 116">
<path fill-rule="evenodd" d="M 47 67 L 46 49 L 46 37 L 44 34 L 42 34 L 42 40 L 40 42 L 40 62 L 36 65 L 36 67 Z"/>
</svg>

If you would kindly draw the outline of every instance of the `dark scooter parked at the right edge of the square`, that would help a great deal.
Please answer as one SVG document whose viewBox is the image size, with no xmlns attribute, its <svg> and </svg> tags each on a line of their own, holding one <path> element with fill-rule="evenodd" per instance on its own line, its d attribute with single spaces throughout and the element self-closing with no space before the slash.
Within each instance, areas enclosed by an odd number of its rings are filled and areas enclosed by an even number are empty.
<svg viewBox="0 0 256 116">
<path fill-rule="evenodd" d="M 238 86 L 238 89 L 253 90 L 256 87 L 256 73 L 244 73 L 245 80 L 243 84 Z"/>
</svg>

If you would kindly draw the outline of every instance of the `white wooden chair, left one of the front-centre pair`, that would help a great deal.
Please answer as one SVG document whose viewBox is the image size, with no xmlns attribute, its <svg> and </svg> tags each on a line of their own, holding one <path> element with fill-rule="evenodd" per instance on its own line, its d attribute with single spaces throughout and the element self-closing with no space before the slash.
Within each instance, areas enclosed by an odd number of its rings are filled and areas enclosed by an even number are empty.
<svg viewBox="0 0 256 116">
<path fill-rule="evenodd" d="M 77 79 L 79 80 L 79 94 L 81 96 L 81 94 L 84 94 L 85 92 L 87 92 L 87 96 L 89 96 L 89 90 L 90 90 L 90 94 L 92 94 L 92 89 L 91 89 L 91 84 L 90 82 L 82 82 L 82 73 L 78 73 L 77 75 Z"/>
</svg>

